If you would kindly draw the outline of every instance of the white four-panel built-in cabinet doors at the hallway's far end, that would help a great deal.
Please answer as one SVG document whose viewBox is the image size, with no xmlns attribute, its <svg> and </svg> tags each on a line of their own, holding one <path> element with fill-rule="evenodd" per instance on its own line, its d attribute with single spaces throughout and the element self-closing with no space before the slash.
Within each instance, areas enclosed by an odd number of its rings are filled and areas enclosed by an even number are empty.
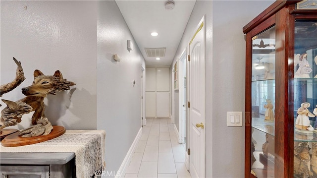
<svg viewBox="0 0 317 178">
<path fill-rule="evenodd" d="M 146 117 L 169 117 L 169 67 L 146 67 Z"/>
</svg>

